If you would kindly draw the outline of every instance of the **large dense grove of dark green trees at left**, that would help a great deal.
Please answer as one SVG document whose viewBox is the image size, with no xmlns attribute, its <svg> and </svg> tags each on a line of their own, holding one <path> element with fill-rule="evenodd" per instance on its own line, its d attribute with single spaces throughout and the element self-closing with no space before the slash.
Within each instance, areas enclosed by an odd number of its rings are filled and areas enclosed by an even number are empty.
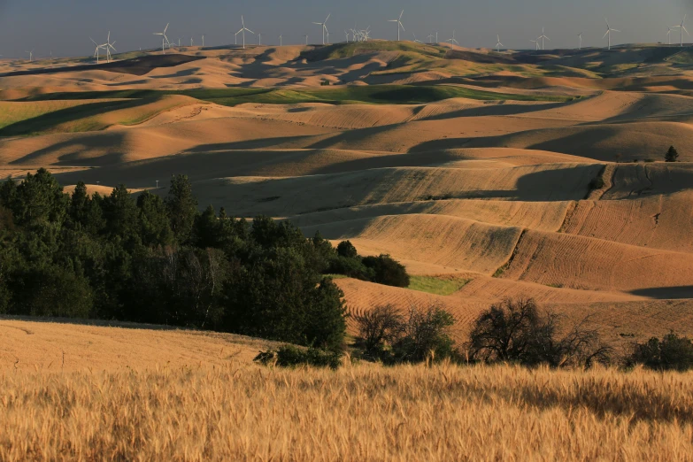
<svg viewBox="0 0 693 462">
<path fill-rule="evenodd" d="M 289 222 L 196 210 L 190 182 L 136 201 L 120 185 L 63 194 L 40 170 L 0 184 L 0 313 L 219 329 L 343 349 L 336 257 Z"/>
</svg>

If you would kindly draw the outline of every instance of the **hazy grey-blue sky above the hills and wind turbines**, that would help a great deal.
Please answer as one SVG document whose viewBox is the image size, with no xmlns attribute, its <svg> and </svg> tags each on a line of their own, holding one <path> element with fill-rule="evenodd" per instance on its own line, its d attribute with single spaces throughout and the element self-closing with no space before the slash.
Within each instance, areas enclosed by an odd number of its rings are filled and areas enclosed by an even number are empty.
<svg viewBox="0 0 693 462">
<path fill-rule="evenodd" d="M 189 43 L 190 36 L 205 45 L 234 42 L 234 33 L 246 26 L 263 34 L 263 43 L 284 44 L 321 40 L 320 26 L 312 21 L 325 19 L 331 42 L 344 40 L 343 30 L 371 26 L 373 38 L 397 38 L 399 16 L 406 28 L 403 39 L 420 40 L 437 29 L 439 40 L 450 38 L 452 30 L 462 46 L 492 47 L 496 34 L 508 48 L 533 46 L 530 39 L 541 34 L 542 26 L 551 38 L 547 48 L 573 48 L 576 35 L 583 33 L 584 46 L 604 46 L 604 16 L 613 28 L 613 43 L 665 42 L 666 27 L 678 24 L 689 13 L 693 34 L 693 0 L 0 0 L 0 54 L 4 58 L 26 56 L 84 56 L 94 52 L 89 36 L 105 42 L 111 31 L 119 51 L 160 46 L 153 32 L 170 22 L 171 42 Z M 678 41 L 678 32 L 672 41 Z M 247 37 L 257 42 L 257 36 Z M 684 35 L 684 42 L 691 42 Z"/>
</svg>

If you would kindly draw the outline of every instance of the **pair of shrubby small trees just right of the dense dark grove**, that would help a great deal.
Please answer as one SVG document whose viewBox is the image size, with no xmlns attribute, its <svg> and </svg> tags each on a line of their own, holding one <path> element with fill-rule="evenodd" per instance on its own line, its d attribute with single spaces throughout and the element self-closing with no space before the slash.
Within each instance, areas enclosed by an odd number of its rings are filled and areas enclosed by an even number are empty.
<svg viewBox="0 0 693 462">
<path fill-rule="evenodd" d="M 364 358 L 384 364 L 419 363 L 454 357 L 449 329 L 455 320 L 440 306 L 411 304 L 402 314 L 392 305 L 354 316 Z"/>
</svg>

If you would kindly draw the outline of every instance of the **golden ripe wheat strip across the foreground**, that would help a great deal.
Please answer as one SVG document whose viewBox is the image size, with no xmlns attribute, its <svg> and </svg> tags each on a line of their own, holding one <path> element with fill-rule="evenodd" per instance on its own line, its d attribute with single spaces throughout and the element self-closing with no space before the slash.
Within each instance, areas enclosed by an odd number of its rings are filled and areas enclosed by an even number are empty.
<svg viewBox="0 0 693 462">
<path fill-rule="evenodd" d="M 0 459 L 691 460 L 693 374 L 4 369 Z"/>
</svg>

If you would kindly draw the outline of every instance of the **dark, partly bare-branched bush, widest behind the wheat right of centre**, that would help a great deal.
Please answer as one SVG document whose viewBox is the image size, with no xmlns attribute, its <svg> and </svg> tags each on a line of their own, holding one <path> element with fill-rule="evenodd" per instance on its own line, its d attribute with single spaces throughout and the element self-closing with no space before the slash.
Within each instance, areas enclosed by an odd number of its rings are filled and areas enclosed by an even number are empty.
<svg viewBox="0 0 693 462">
<path fill-rule="evenodd" d="M 474 321 L 467 351 L 472 361 L 512 362 L 523 366 L 591 366 L 607 364 L 611 348 L 582 320 L 558 338 L 559 316 L 539 312 L 534 300 L 507 298 Z"/>
</svg>

